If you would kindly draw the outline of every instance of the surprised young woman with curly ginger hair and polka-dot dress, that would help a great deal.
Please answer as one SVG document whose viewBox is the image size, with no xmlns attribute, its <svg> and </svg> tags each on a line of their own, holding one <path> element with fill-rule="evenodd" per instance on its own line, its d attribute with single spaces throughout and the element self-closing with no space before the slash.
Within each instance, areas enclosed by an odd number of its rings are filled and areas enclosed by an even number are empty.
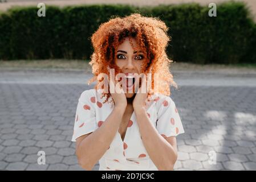
<svg viewBox="0 0 256 182">
<path fill-rule="evenodd" d="M 176 136 L 184 129 L 169 97 L 169 86 L 177 85 L 165 53 L 167 30 L 157 18 L 132 14 L 101 24 L 92 35 L 90 82 L 97 82 L 95 89 L 80 95 L 72 137 L 84 169 L 91 170 L 99 161 L 99 170 L 173 170 Z M 108 77 L 123 92 L 99 86 L 101 73 L 109 76 L 111 69 L 115 76 L 124 74 L 115 80 Z M 151 73 L 150 83 L 148 78 L 135 81 L 135 75 L 142 73 Z M 136 92 L 145 82 L 151 88 Z"/>
</svg>

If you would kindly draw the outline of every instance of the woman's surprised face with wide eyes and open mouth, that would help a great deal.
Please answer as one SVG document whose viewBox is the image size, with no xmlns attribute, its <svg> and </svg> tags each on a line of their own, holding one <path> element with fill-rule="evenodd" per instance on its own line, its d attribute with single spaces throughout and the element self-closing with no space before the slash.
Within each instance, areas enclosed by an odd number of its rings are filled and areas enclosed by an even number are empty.
<svg viewBox="0 0 256 182">
<path fill-rule="evenodd" d="M 131 38 L 131 41 L 133 47 L 137 47 L 136 40 Z M 125 38 L 124 42 L 117 47 L 115 60 L 116 65 L 121 69 L 121 73 L 137 73 L 140 75 L 145 55 L 140 49 L 138 51 L 138 54 L 136 54 L 137 52 L 132 48 L 128 38 Z M 131 80 L 127 80 L 127 85 L 125 88 L 123 87 L 124 91 L 126 89 L 125 96 L 127 98 L 131 98 L 135 94 L 135 88 L 138 85 L 133 83 Z"/>
</svg>

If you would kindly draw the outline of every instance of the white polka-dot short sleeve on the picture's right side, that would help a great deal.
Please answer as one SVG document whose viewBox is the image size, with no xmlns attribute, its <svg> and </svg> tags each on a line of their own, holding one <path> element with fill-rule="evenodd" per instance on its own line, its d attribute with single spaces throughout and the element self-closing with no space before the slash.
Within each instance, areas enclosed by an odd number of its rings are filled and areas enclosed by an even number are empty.
<svg viewBox="0 0 256 182">
<path fill-rule="evenodd" d="M 180 115 L 172 98 L 164 96 L 159 100 L 156 129 L 162 137 L 172 137 L 185 133 Z"/>
</svg>

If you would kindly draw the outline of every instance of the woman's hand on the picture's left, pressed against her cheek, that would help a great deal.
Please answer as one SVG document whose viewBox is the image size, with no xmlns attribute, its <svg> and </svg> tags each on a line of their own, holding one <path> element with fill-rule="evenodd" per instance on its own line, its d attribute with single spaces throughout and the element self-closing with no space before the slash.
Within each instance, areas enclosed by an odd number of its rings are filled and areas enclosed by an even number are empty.
<svg viewBox="0 0 256 182">
<path fill-rule="evenodd" d="M 122 88 L 122 86 L 120 85 L 121 81 L 113 81 L 112 79 L 110 79 L 111 84 L 113 84 L 113 82 L 115 83 L 115 92 L 111 93 L 111 96 L 113 98 L 113 101 L 115 102 L 115 107 L 125 110 L 126 106 L 127 106 L 127 98 L 125 96 L 124 90 Z M 110 85 L 109 85 L 110 86 Z M 113 86 L 113 85 L 112 85 Z"/>
</svg>

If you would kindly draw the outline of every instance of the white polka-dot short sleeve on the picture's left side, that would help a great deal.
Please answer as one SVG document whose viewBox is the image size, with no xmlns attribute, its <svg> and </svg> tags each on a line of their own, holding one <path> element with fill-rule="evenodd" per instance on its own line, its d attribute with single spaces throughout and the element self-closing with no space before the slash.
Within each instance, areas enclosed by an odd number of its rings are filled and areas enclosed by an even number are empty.
<svg viewBox="0 0 256 182">
<path fill-rule="evenodd" d="M 95 117 L 95 94 L 92 90 L 85 90 L 79 97 L 76 107 L 74 134 L 72 142 L 76 142 L 76 138 L 95 131 L 98 127 Z"/>
</svg>

